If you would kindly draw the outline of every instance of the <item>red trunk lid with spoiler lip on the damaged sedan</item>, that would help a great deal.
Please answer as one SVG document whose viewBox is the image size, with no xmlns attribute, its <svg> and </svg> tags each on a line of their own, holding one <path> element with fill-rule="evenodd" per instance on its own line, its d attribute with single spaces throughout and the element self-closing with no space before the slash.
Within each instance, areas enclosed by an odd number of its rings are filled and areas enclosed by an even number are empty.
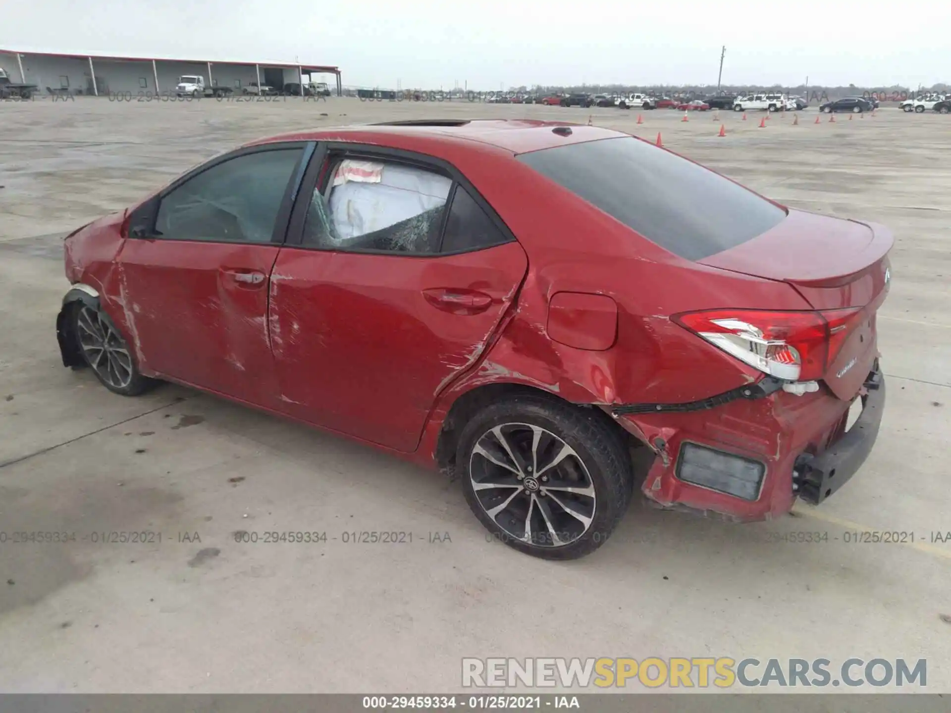
<svg viewBox="0 0 951 713">
<path fill-rule="evenodd" d="M 854 316 L 831 337 L 824 377 L 835 395 L 851 399 L 878 357 L 875 317 L 890 285 L 892 243 L 883 225 L 790 210 L 763 235 L 699 261 L 782 280 L 816 310 L 851 308 Z"/>
</svg>

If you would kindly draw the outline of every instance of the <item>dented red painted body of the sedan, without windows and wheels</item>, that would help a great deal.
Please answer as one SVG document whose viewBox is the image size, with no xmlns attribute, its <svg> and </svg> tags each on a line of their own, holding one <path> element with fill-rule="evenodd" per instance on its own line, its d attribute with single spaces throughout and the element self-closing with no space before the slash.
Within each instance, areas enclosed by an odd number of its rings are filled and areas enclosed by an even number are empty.
<svg viewBox="0 0 951 713">
<path fill-rule="evenodd" d="M 770 202 L 786 215 L 762 235 L 685 259 L 520 160 L 613 140 L 665 152 L 645 154 L 664 161 L 667 149 L 594 126 L 434 124 L 305 131 L 243 150 L 316 146 L 302 173 L 305 197 L 307 182 L 327 171 L 324 147 L 416 156 L 464 177 L 514 240 L 428 258 L 311 250 L 294 244 L 296 212 L 273 244 L 155 240 L 130 230 L 146 199 L 68 237 L 66 301 L 97 296 L 146 376 L 425 466 L 445 465 L 447 416 L 460 399 L 510 386 L 609 414 L 653 453 L 642 490 L 664 507 L 769 518 L 804 494 L 795 478 L 810 461 L 861 465 L 881 401 L 865 409 L 864 440 L 844 431 L 857 396 L 883 397 L 875 313 L 892 245 L 883 226 Z M 711 172 L 709 180 L 726 181 Z M 711 309 L 819 330 L 800 348 L 806 361 L 806 349 L 826 350 L 810 367 L 816 389 L 791 393 L 699 336 Z M 64 363 L 75 363 L 60 337 Z M 755 498 L 680 477 L 688 443 L 762 464 Z M 841 468 L 844 481 L 851 473 Z M 825 468 L 811 501 L 839 487 L 834 475 Z"/>
</svg>

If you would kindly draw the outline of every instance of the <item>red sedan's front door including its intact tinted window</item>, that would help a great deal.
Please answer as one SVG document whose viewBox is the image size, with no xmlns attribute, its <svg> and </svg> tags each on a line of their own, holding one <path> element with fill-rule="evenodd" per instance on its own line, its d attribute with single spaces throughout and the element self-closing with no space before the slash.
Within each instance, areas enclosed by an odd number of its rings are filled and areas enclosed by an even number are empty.
<svg viewBox="0 0 951 713">
<path fill-rule="evenodd" d="M 144 206 L 119 256 L 131 337 L 147 369 L 273 406 L 271 268 L 312 144 L 243 149 Z"/>
</svg>

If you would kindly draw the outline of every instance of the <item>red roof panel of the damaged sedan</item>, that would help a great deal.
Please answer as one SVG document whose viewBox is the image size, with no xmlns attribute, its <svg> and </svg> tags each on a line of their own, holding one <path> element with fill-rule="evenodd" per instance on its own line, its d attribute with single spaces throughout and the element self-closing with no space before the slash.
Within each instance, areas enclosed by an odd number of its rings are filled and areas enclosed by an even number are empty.
<svg viewBox="0 0 951 713">
<path fill-rule="evenodd" d="M 555 133 L 566 126 L 571 133 Z M 384 124 L 350 125 L 271 136 L 247 144 L 262 145 L 285 141 L 340 141 L 378 144 L 415 150 L 427 143 L 476 148 L 493 146 L 511 153 L 526 153 L 554 146 L 613 139 L 629 134 L 599 126 L 570 122 L 546 122 L 533 119 L 433 119 Z"/>
</svg>

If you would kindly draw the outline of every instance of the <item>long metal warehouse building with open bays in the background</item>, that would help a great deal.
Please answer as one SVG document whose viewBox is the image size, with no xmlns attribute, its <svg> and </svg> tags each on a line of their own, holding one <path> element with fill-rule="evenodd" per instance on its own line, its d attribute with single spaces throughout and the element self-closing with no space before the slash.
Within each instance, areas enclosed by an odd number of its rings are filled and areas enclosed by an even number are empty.
<svg viewBox="0 0 951 713">
<path fill-rule="evenodd" d="M 333 74 L 340 94 L 340 68 L 298 62 L 218 62 L 159 57 L 17 51 L 0 48 L 0 67 L 11 79 L 36 85 L 42 93 L 106 96 L 114 92 L 172 92 L 183 75 L 204 77 L 206 87 L 240 92 L 252 82 L 269 87 L 301 82 L 301 75 Z M 16 81 L 16 80 L 14 80 Z M 315 77 L 314 81 L 318 81 Z M 328 82 L 328 84 L 330 84 Z"/>
</svg>

